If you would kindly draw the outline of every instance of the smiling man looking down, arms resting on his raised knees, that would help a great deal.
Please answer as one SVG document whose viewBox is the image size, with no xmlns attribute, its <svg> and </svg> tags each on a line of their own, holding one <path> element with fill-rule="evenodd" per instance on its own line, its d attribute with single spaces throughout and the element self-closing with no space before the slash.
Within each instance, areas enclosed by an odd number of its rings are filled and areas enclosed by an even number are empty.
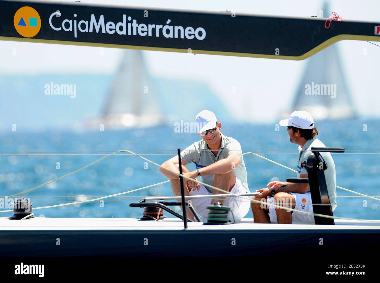
<svg viewBox="0 0 380 283">
<path fill-rule="evenodd" d="M 201 140 L 194 142 L 181 152 L 182 172 L 185 177 L 200 178 L 201 182 L 230 191 L 234 194 L 249 193 L 247 170 L 243 160 L 242 150 L 236 139 L 226 137 L 221 132 L 220 123 L 214 113 L 203 110 L 195 118 L 197 131 Z M 185 165 L 194 163 L 196 170 L 190 172 Z M 175 196 L 180 196 L 179 160 L 175 156 L 162 164 L 163 167 L 177 172 L 176 174 L 160 168 L 160 172 L 170 179 L 171 188 Z M 218 190 L 205 187 L 192 180 L 184 179 L 185 195 L 220 194 Z M 220 199 L 193 199 L 192 205 L 201 217 L 207 217 L 207 206 Z M 234 218 L 243 218 L 249 211 L 249 199 L 232 197 L 226 198 L 224 205 L 231 208 Z M 190 210 L 187 210 L 190 219 L 194 219 Z"/>
</svg>

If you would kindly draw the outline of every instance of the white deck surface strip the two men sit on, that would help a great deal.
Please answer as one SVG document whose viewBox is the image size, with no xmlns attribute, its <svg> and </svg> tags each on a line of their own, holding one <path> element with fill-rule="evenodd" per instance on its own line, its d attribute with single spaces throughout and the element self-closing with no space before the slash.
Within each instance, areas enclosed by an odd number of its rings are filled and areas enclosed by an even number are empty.
<svg viewBox="0 0 380 283">
<path fill-rule="evenodd" d="M 345 230 L 377 229 L 380 221 L 358 222 L 336 220 L 331 225 L 305 224 L 255 224 L 252 218 L 244 218 L 241 223 L 231 225 L 203 225 L 188 223 L 188 230 Z M 135 218 L 32 218 L 28 220 L 8 220 L 0 218 L 0 232 L 9 230 L 182 230 L 184 224 L 178 218 L 165 218 L 161 221 L 139 221 Z M 341 231 L 343 232 L 343 231 Z"/>
</svg>

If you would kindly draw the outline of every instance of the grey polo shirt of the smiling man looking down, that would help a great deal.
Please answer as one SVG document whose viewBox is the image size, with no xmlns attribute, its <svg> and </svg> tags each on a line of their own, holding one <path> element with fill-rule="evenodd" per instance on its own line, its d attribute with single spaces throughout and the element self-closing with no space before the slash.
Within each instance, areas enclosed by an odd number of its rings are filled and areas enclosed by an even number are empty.
<svg viewBox="0 0 380 283">
<path fill-rule="evenodd" d="M 224 159 L 228 157 L 230 153 L 235 152 L 240 156 L 240 162 L 237 164 L 233 172 L 236 178 L 241 181 L 247 193 L 249 193 L 247 169 L 245 169 L 241 145 L 238 141 L 236 141 L 236 139 L 226 137 L 222 133 L 220 133 L 220 135 L 222 136 L 222 144 L 220 145 L 220 149 L 216 157 L 209 149 L 207 142 L 201 139 L 183 150 L 181 152 L 181 159 L 185 161 L 186 164 L 194 163 L 196 168 L 199 169 L 209 166 L 218 160 Z M 215 175 L 202 175 L 200 176 L 200 181 L 212 186 L 214 184 L 214 176 Z M 212 188 L 206 187 L 206 189 L 212 193 Z"/>
</svg>

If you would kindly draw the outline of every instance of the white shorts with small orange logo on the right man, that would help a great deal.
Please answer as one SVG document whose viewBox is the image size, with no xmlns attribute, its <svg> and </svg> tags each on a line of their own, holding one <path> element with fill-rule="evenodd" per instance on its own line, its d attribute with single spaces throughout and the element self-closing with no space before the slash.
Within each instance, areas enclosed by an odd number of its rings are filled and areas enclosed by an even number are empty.
<svg viewBox="0 0 380 283">
<path fill-rule="evenodd" d="M 306 211 L 313 213 L 313 205 L 311 202 L 311 194 L 297 194 L 297 193 L 291 193 L 293 194 L 294 198 L 296 199 L 296 206 L 294 209 Z M 277 223 L 277 213 L 276 209 L 273 204 L 274 198 L 269 198 L 269 217 L 271 218 L 271 223 Z M 299 213 L 299 212 L 293 212 L 291 213 L 291 219 L 292 223 L 302 223 L 302 224 L 315 224 L 314 216 L 306 213 Z"/>
</svg>

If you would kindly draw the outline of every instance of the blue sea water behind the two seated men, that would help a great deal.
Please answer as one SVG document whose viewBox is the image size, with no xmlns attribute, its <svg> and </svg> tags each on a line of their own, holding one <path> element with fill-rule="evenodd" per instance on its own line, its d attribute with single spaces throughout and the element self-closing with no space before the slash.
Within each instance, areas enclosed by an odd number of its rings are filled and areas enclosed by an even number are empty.
<svg viewBox="0 0 380 283">
<path fill-rule="evenodd" d="M 337 185 L 370 196 L 380 196 L 379 120 L 345 120 L 317 123 L 319 139 L 326 146 L 344 147 L 346 153 L 332 155 L 336 165 Z M 367 125 L 367 129 L 363 125 Z M 366 131 L 364 131 L 364 130 Z M 278 130 L 278 129 L 277 129 Z M 298 145 L 289 141 L 285 128 L 222 121 L 222 133 L 237 139 L 243 152 L 255 152 L 296 168 Z M 119 149 L 128 149 L 161 164 L 197 141 L 195 133 L 175 133 L 173 126 L 130 129 L 123 131 L 9 131 L 0 134 L 0 195 L 9 196 L 68 174 Z M 248 184 L 251 191 L 266 186 L 273 178 L 285 181 L 296 173 L 253 155 L 245 155 Z M 60 169 L 57 169 L 57 163 Z M 23 194 L 34 201 L 33 208 L 50 206 L 89 196 L 106 196 L 145 187 L 166 179 L 158 167 L 133 155 L 109 157 L 90 168 L 65 179 Z M 190 170 L 195 167 L 187 165 Z M 45 217 L 140 217 L 141 208 L 131 208 L 143 196 L 171 196 L 169 183 L 125 194 L 128 198 L 33 210 Z M 60 196 L 61 198 L 53 198 Z M 134 198 L 130 198 L 130 197 Z M 380 201 L 337 189 L 339 217 L 379 219 Z M 349 196 L 349 197 L 346 197 Z M 353 196 L 353 197 L 351 197 Z M 38 198 L 37 198 L 38 197 Z M 43 197 L 43 198 L 42 198 Z M 3 202 L 2 210 L 5 203 Z M 179 210 L 179 207 L 176 207 Z M 11 212 L 1 216 L 12 215 Z M 171 216 L 171 215 L 167 215 Z M 246 217 L 252 217 L 252 212 Z"/>
</svg>

